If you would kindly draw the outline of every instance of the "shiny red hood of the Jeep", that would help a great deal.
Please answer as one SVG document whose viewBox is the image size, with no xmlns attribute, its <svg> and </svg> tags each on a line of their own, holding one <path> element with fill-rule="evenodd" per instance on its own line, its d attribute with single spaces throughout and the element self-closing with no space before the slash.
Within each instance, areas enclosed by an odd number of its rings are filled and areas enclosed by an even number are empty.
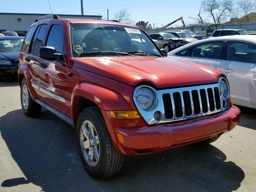
<svg viewBox="0 0 256 192">
<path fill-rule="evenodd" d="M 149 82 L 156 88 L 215 83 L 221 74 L 203 65 L 167 57 L 71 58 L 70 65 L 130 86 Z"/>
</svg>

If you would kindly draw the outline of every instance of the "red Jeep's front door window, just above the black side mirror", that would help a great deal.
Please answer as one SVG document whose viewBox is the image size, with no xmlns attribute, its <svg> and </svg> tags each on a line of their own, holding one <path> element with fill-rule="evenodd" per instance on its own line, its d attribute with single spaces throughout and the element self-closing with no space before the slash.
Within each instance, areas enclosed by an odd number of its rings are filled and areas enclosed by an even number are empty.
<svg viewBox="0 0 256 192">
<path fill-rule="evenodd" d="M 63 30 L 60 25 L 53 25 L 46 46 L 54 47 L 56 53 L 62 53 L 63 49 Z"/>
</svg>

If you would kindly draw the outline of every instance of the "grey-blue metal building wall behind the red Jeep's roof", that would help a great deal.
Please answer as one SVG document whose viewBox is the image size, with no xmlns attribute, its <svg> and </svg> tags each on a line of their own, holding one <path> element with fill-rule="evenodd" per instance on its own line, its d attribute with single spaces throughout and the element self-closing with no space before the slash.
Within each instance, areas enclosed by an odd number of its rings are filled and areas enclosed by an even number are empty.
<svg viewBox="0 0 256 192">
<path fill-rule="evenodd" d="M 0 30 L 6 31 L 27 31 L 36 18 L 42 15 L 12 15 L 12 14 L 0 14 Z M 18 22 L 18 18 L 21 18 L 21 22 Z M 96 19 L 100 20 L 100 16 L 61 16 L 60 18 L 74 18 L 74 19 Z"/>
</svg>

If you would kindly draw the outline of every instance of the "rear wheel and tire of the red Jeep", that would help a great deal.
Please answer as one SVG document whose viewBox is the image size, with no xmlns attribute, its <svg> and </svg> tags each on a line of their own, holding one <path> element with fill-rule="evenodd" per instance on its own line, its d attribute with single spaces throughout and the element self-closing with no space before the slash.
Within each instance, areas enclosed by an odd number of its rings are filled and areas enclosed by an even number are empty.
<svg viewBox="0 0 256 192">
<path fill-rule="evenodd" d="M 20 86 L 20 102 L 22 111 L 26 116 L 34 117 L 40 114 L 42 106 L 33 101 L 25 78 L 22 80 Z"/>
</svg>

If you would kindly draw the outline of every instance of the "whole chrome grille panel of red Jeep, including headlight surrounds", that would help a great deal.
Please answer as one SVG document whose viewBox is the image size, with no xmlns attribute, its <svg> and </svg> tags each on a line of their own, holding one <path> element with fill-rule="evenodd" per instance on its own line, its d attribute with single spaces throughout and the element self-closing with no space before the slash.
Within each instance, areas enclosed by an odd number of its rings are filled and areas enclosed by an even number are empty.
<svg viewBox="0 0 256 192">
<path fill-rule="evenodd" d="M 161 90 L 141 85 L 134 89 L 134 103 L 142 118 L 150 125 L 215 114 L 228 110 L 230 106 L 229 97 L 220 96 L 219 88 L 222 79 L 223 77 L 214 84 Z M 143 87 L 152 90 L 156 96 L 154 104 L 146 110 L 141 109 L 135 100 L 136 92 Z"/>
</svg>

